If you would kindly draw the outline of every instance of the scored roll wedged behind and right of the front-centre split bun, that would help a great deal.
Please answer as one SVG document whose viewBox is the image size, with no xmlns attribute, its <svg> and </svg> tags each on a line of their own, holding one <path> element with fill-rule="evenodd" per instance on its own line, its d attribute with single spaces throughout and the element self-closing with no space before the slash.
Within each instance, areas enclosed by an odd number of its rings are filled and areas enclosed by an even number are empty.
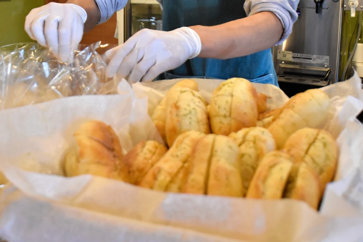
<svg viewBox="0 0 363 242">
<path fill-rule="evenodd" d="M 276 143 L 270 132 L 263 127 L 242 128 L 229 137 L 236 142 L 241 152 L 241 175 L 244 190 L 247 191 L 260 160 L 266 153 L 276 149 Z"/>
</svg>

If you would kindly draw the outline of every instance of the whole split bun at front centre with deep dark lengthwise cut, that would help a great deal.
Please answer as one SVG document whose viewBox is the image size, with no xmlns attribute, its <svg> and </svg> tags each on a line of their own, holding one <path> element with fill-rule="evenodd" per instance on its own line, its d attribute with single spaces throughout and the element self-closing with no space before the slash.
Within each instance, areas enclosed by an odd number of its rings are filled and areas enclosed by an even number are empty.
<svg viewBox="0 0 363 242">
<path fill-rule="evenodd" d="M 197 141 L 188 159 L 185 193 L 241 197 L 240 154 L 233 140 L 206 135 Z"/>
</svg>

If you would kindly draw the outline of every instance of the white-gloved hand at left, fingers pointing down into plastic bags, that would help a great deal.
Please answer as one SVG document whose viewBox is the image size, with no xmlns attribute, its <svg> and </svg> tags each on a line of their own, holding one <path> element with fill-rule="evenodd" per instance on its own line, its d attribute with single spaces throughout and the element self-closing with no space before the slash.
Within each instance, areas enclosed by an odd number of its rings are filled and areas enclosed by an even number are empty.
<svg viewBox="0 0 363 242">
<path fill-rule="evenodd" d="M 39 44 L 53 48 L 52 52 L 61 61 L 69 62 L 82 40 L 86 20 L 85 9 L 76 4 L 49 3 L 30 11 L 25 31 Z"/>
</svg>

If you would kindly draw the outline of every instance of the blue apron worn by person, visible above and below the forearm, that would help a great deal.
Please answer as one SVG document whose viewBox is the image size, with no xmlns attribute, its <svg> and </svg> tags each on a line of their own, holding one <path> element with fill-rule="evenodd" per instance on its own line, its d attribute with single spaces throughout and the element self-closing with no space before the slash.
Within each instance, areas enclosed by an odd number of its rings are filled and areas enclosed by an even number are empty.
<svg viewBox="0 0 363 242">
<path fill-rule="evenodd" d="M 244 0 L 163 0 L 163 30 L 183 26 L 213 26 L 246 17 Z M 217 38 L 217 36 L 216 36 Z M 219 60 L 193 58 L 161 74 L 158 79 L 174 78 L 228 79 L 242 77 L 252 82 L 278 86 L 271 49 L 249 56 Z"/>
</svg>

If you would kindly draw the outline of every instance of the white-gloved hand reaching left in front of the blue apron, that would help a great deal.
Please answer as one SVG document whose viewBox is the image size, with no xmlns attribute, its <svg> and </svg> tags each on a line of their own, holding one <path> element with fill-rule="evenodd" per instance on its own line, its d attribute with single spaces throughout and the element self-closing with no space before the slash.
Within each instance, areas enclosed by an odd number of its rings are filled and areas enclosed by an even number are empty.
<svg viewBox="0 0 363 242">
<path fill-rule="evenodd" d="M 169 32 L 142 29 L 129 40 L 108 50 L 110 60 L 107 75 L 116 73 L 130 83 L 152 81 L 164 71 L 174 69 L 188 58 L 199 55 L 201 42 L 198 34 L 187 27 Z"/>
</svg>

